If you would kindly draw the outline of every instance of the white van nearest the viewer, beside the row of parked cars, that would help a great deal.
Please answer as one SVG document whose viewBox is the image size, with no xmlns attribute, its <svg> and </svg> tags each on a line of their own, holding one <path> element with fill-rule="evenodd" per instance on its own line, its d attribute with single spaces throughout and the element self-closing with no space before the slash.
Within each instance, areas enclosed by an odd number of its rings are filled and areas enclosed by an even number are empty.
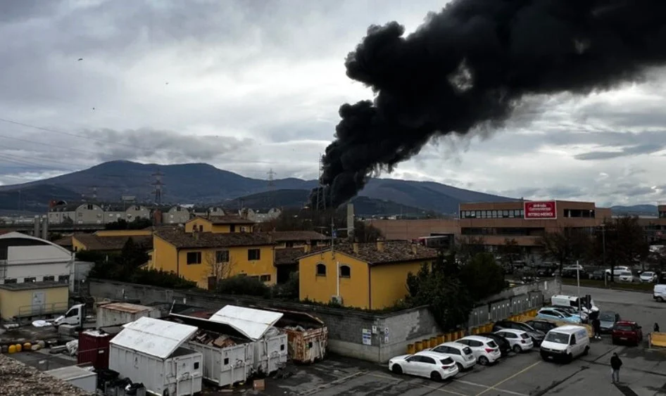
<svg viewBox="0 0 666 396">
<path fill-rule="evenodd" d="M 582 326 L 560 326 L 548 331 L 541 343 L 541 359 L 566 360 L 587 355 L 590 351 L 590 338 Z"/>
</svg>

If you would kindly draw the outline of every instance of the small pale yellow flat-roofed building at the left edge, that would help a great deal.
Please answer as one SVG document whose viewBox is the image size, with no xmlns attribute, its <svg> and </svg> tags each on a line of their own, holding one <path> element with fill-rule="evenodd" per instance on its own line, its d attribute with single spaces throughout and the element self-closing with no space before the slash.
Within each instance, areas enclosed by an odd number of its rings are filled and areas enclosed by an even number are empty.
<svg viewBox="0 0 666 396">
<path fill-rule="evenodd" d="M 0 316 L 6 321 L 62 314 L 67 311 L 69 285 L 57 281 L 0 285 Z"/>
</svg>

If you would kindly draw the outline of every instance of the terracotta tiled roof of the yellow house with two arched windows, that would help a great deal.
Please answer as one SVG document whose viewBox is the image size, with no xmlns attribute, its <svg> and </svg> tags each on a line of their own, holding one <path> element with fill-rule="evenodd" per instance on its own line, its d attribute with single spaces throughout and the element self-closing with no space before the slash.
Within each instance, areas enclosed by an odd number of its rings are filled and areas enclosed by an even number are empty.
<svg viewBox="0 0 666 396">
<path fill-rule="evenodd" d="M 330 247 L 322 248 L 313 251 L 313 253 L 321 253 L 330 249 Z M 358 253 L 354 253 L 351 243 L 334 245 L 334 250 L 351 257 L 356 257 L 371 265 L 416 260 L 435 260 L 437 258 L 436 249 L 426 248 L 425 246 L 408 241 L 386 241 L 384 242 L 384 251 L 377 250 L 377 243 L 359 243 Z"/>
</svg>

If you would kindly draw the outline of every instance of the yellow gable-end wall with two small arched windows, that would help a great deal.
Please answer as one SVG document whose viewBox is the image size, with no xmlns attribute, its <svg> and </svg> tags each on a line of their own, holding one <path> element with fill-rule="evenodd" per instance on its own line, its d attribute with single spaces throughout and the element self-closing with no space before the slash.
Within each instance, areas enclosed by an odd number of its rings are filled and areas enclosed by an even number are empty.
<svg viewBox="0 0 666 396">
<path fill-rule="evenodd" d="M 349 278 L 340 278 L 340 293 L 343 305 L 347 307 L 370 308 L 368 290 L 368 267 L 362 262 L 342 253 L 327 250 L 317 255 L 299 260 L 299 294 L 301 299 L 330 302 L 337 293 L 337 262 L 351 269 Z M 326 276 L 317 275 L 317 264 L 326 265 Z"/>
</svg>

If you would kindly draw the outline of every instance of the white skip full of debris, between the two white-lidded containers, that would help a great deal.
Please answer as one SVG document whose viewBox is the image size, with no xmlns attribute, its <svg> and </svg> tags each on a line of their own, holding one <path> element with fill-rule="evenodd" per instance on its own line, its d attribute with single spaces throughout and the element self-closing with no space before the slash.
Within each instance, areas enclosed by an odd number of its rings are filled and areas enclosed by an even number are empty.
<svg viewBox="0 0 666 396">
<path fill-rule="evenodd" d="M 247 381 L 254 370 L 253 341 L 227 324 L 171 314 L 175 321 L 199 328 L 187 347 L 203 354 L 203 378 L 218 386 Z"/>
</svg>

